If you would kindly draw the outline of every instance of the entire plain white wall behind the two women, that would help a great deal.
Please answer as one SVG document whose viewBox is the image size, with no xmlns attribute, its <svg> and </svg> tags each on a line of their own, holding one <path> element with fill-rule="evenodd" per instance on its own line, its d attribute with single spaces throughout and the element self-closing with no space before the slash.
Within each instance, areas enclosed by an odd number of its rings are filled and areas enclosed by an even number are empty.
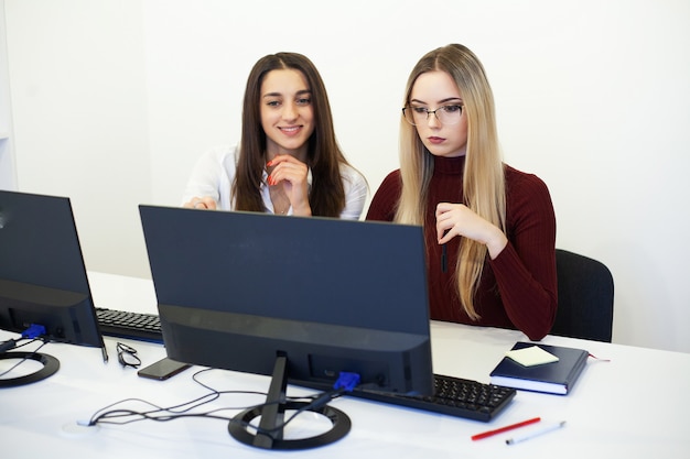
<svg viewBox="0 0 690 459">
<path fill-rule="evenodd" d="M 690 352 L 690 2 L 6 0 L 19 187 L 68 195 L 91 270 L 148 275 L 136 205 L 177 205 L 237 141 L 251 65 L 320 68 L 373 192 L 397 167 L 417 59 L 466 44 L 494 87 L 506 161 L 543 178 L 557 245 L 606 263 L 614 341 Z"/>
</svg>

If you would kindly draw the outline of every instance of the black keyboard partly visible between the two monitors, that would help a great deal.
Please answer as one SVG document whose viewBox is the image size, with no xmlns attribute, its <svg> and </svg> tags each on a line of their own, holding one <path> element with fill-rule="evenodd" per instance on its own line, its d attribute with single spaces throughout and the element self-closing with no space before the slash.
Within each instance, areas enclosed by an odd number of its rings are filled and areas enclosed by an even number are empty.
<svg viewBox="0 0 690 459">
<path fill-rule="evenodd" d="M 100 332 L 118 338 L 163 342 L 161 321 L 155 314 L 96 308 Z"/>
</svg>

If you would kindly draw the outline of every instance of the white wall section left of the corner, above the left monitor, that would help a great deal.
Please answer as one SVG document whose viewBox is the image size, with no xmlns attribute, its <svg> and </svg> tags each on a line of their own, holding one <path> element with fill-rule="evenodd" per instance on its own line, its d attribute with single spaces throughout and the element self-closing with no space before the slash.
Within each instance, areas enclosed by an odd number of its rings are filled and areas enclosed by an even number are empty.
<svg viewBox="0 0 690 459">
<path fill-rule="evenodd" d="M 6 0 L 19 189 L 72 198 L 87 267 L 148 274 L 139 0 Z"/>
</svg>

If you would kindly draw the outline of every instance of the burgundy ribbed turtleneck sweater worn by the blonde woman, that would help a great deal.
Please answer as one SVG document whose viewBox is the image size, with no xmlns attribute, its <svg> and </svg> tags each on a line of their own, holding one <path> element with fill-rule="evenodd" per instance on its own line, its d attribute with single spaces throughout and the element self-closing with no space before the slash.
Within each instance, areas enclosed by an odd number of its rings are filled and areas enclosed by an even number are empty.
<svg viewBox="0 0 690 459">
<path fill-rule="evenodd" d="M 439 203 L 463 203 L 464 156 L 434 157 L 424 220 L 430 317 L 434 320 L 517 328 L 531 340 L 540 340 L 556 317 L 556 216 L 546 184 L 536 175 L 510 166 L 506 171 L 506 220 L 508 244 L 490 260 L 475 295 L 472 320 L 456 292 L 455 262 L 460 238 L 446 244 L 446 270 L 436 242 L 435 208 Z M 392 221 L 401 190 L 400 171 L 391 172 L 376 192 L 367 220 Z"/>
</svg>

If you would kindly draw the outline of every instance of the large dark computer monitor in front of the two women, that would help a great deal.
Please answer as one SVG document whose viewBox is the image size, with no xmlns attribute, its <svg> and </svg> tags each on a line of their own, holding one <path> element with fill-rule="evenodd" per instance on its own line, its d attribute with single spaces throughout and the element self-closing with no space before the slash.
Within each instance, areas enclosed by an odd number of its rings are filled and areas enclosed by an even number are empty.
<svg viewBox="0 0 690 459">
<path fill-rule="evenodd" d="M 432 393 L 421 227 L 139 207 L 170 358 L 279 386 L 349 372 L 369 390 Z"/>
</svg>

